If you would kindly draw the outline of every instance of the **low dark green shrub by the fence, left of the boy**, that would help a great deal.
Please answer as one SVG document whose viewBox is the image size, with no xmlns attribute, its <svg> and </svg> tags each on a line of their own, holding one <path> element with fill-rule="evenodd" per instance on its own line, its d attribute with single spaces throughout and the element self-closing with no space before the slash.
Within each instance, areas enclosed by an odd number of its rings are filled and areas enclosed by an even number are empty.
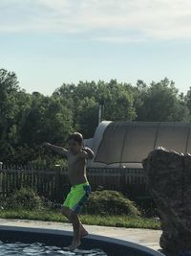
<svg viewBox="0 0 191 256">
<path fill-rule="evenodd" d="M 43 200 L 32 188 L 21 188 L 16 190 L 11 197 L 7 198 L 5 207 L 10 209 L 40 210 L 44 207 Z"/>
</svg>

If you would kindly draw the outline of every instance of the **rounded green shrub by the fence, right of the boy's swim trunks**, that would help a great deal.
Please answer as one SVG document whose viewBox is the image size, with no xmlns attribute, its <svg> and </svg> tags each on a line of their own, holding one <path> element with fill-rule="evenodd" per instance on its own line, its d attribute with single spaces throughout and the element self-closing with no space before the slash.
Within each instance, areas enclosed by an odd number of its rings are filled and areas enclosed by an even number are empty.
<svg viewBox="0 0 191 256">
<path fill-rule="evenodd" d="M 135 202 L 112 190 L 96 191 L 90 195 L 86 205 L 88 214 L 96 215 L 140 215 Z"/>
</svg>

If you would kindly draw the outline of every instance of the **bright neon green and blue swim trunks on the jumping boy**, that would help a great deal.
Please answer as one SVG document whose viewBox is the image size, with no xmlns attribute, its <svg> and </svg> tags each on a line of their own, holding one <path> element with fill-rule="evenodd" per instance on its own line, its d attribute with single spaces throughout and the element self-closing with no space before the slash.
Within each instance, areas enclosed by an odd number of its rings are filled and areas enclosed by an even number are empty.
<svg viewBox="0 0 191 256">
<path fill-rule="evenodd" d="M 63 206 L 79 213 L 83 205 L 87 202 L 91 193 L 91 186 L 88 182 L 77 184 L 71 187 L 71 191 L 65 199 Z"/>
</svg>

